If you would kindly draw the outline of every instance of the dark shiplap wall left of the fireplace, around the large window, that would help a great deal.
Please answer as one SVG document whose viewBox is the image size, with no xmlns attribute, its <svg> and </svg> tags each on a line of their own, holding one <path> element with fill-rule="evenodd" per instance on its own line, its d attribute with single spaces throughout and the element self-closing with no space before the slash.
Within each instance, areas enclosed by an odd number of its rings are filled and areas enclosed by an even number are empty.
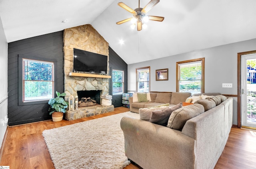
<svg viewBox="0 0 256 169">
<path fill-rule="evenodd" d="M 8 118 L 9 126 L 49 120 L 49 105 L 18 106 L 18 55 L 57 61 L 55 91 L 64 91 L 63 31 L 8 43 Z"/>
</svg>

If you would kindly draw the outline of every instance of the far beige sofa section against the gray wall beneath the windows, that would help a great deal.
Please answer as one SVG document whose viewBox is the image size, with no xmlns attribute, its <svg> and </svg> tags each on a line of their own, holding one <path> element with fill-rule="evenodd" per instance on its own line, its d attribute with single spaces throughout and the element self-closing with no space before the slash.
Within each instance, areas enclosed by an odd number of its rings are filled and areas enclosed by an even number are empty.
<svg viewBox="0 0 256 169">
<path fill-rule="evenodd" d="M 140 108 L 158 106 L 169 103 L 174 106 L 180 102 L 185 102 L 190 97 L 190 92 L 150 92 L 151 100 L 148 102 L 134 102 L 133 97 L 129 97 L 130 111 L 139 113 Z"/>
</svg>

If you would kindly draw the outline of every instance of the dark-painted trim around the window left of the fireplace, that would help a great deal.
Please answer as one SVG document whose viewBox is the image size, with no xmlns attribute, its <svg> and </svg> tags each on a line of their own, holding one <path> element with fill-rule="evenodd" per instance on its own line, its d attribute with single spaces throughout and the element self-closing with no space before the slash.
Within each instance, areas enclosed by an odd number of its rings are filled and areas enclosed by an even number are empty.
<svg viewBox="0 0 256 169">
<path fill-rule="evenodd" d="M 40 100 L 40 101 L 32 101 L 32 102 L 23 102 L 23 76 L 22 76 L 22 63 L 23 59 L 31 59 L 38 61 L 46 61 L 54 63 L 54 96 L 56 96 L 56 87 L 57 87 L 57 60 L 56 59 L 48 59 L 42 57 L 35 57 L 29 55 L 18 55 L 18 106 L 24 105 L 33 105 L 33 104 L 46 104 L 49 100 Z"/>
</svg>

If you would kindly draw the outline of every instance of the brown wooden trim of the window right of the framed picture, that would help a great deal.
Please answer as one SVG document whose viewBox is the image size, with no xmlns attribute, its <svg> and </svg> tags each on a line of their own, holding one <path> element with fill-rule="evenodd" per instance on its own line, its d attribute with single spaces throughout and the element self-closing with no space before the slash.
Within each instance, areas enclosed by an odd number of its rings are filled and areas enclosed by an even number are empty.
<svg viewBox="0 0 256 169">
<path fill-rule="evenodd" d="M 196 61 L 202 61 L 202 90 L 201 92 L 204 93 L 204 57 L 203 58 L 199 58 L 199 59 L 191 59 L 191 60 L 187 60 L 187 61 L 180 61 L 180 62 L 176 62 L 176 92 L 178 92 L 178 71 L 179 71 L 179 64 L 182 63 L 190 63 L 190 62 L 196 62 Z"/>
</svg>

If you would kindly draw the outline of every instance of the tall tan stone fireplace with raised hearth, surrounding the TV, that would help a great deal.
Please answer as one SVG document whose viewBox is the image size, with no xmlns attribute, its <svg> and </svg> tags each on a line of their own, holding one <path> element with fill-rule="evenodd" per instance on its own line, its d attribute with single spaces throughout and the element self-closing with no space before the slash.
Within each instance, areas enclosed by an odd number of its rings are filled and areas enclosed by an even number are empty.
<svg viewBox="0 0 256 169">
<path fill-rule="evenodd" d="M 91 26 L 83 25 L 74 28 L 64 29 L 64 92 L 66 93 L 65 100 L 69 96 L 76 96 L 81 91 L 93 93 L 95 91 L 101 94 L 108 94 L 108 78 L 102 77 L 84 77 L 71 75 L 73 70 L 73 49 L 81 49 L 106 55 L 108 57 L 108 42 Z M 109 68 L 107 69 L 108 75 Z M 78 92 L 79 91 L 79 92 Z M 97 96 L 98 97 L 98 96 Z M 97 98 L 98 104 L 101 104 L 101 98 Z M 72 110 L 65 113 L 67 120 L 75 120 L 78 118 L 102 114 L 105 112 L 114 111 L 114 106 L 88 106 L 78 110 Z"/>
</svg>

